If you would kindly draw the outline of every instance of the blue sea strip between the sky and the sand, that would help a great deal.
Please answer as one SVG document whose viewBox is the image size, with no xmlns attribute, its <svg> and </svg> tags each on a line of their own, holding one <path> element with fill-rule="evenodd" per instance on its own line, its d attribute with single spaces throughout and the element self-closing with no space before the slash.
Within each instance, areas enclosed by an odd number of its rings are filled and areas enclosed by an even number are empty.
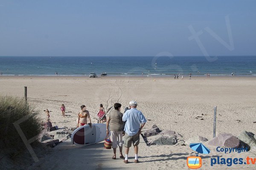
<svg viewBox="0 0 256 170">
<path fill-rule="evenodd" d="M 3 75 L 40 76 L 256 76 L 256 56 L 206 57 L 0 57 Z"/>
</svg>

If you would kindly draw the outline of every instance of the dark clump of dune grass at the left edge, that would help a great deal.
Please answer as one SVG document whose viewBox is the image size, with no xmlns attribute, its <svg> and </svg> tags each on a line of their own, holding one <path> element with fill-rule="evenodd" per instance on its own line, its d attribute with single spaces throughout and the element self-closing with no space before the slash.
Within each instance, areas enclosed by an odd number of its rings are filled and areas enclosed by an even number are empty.
<svg viewBox="0 0 256 170">
<path fill-rule="evenodd" d="M 28 140 L 42 130 L 38 111 L 28 107 L 24 99 L 0 96 L 0 150 L 7 151 L 10 156 L 26 149 L 13 124 L 24 116 L 28 119 L 20 123 L 20 128 Z"/>
</svg>

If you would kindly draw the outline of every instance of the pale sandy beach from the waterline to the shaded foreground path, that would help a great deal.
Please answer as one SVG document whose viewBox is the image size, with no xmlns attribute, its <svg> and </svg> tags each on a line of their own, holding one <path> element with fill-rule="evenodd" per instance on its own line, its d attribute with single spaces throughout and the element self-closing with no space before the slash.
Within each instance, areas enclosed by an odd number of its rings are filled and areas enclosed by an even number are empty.
<svg viewBox="0 0 256 170">
<path fill-rule="evenodd" d="M 138 102 L 148 122 L 145 128 L 157 125 L 160 130 L 174 130 L 184 141 L 192 136 L 208 140 L 213 135 L 213 113 L 217 106 L 217 132 L 238 136 L 243 130 L 256 133 L 256 78 L 255 77 L 0 77 L 0 94 L 23 97 L 28 89 L 28 101 L 45 119 L 49 109 L 53 126 L 76 127 L 77 113 L 86 105 L 93 123 L 97 122 L 99 104 L 107 110 L 115 102 L 122 111 L 131 100 Z M 61 116 L 61 104 L 66 106 L 66 117 Z M 196 119 L 202 116 L 201 119 Z M 201 155 L 201 169 L 253 169 L 255 165 L 210 165 L 210 158 L 256 157 L 252 153 L 216 152 L 207 145 L 208 155 Z M 31 169 L 189 169 L 186 158 L 195 155 L 189 146 L 147 146 L 141 137 L 139 160 L 141 163 L 124 164 L 122 159 L 112 160 L 113 150 L 105 150 L 103 143 L 79 147 L 70 139 L 54 147 L 47 158 L 32 165 Z M 124 153 L 124 151 L 123 151 Z M 68 158 L 68 159 L 67 159 Z M 63 161 L 61 161 L 63 160 Z M 65 161 L 67 160 L 67 161 Z M 129 161 L 134 160 L 133 148 Z"/>
</svg>

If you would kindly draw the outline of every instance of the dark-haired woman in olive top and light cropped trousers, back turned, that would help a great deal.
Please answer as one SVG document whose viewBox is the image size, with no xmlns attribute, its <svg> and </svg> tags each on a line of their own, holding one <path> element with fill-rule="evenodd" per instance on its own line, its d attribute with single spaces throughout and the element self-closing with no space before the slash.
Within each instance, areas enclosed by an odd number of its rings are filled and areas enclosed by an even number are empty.
<svg viewBox="0 0 256 170">
<path fill-rule="evenodd" d="M 109 113 L 108 121 L 107 121 L 107 130 L 106 133 L 111 133 L 111 141 L 112 141 L 112 148 L 114 152 L 114 156 L 112 159 L 116 159 L 116 147 L 119 145 L 119 151 L 120 151 L 120 156 L 119 158 L 124 159 L 124 156 L 122 155 L 122 136 L 125 135 L 125 132 L 123 131 L 123 122 L 122 122 L 122 116 L 123 113 L 120 112 L 121 110 L 121 104 L 120 103 L 115 103 L 114 104 L 114 111 L 111 111 Z M 108 129 L 110 123 L 110 127 Z"/>
</svg>

